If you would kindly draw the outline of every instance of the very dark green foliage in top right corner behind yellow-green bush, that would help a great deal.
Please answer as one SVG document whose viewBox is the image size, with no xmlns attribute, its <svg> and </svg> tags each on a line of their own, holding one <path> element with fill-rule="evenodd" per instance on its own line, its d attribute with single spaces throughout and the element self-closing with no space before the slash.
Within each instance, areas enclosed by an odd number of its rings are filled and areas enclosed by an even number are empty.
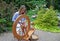
<svg viewBox="0 0 60 41">
<path fill-rule="evenodd" d="M 50 7 L 52 5 L 54 9 L 58 9 L 60 11 L 60 0 L 46 0 L 46 1 L 47 7 Z"/>
</svg>

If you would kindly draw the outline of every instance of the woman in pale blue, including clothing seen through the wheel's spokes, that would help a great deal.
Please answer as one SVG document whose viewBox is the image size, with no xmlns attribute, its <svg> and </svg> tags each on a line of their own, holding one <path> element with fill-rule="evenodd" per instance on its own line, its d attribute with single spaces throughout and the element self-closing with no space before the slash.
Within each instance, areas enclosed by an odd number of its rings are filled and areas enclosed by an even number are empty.
<svg viewBox="0 0 60 41">
<path fill-rule="evenodd" d="M 13 15 L 12 21 L 13 21 L 13 22 L 16 21 L 17 17 L 18 17 L 19 15 L 23 15 L 23 14 L 26 14 L 26 7 L 25 7 L 24 5 L 21 5 L 20 9 Z M 24 23 L 25 18 L 22 18 L 21 21 Z M 18 22 L 18 23 L 17 23 L 16 31 L 17 31 L 18 34 L 21 34 L 21 35 L 22 35 L 22 32 L 21 32 L 22 29 L 20 28 L 20 26 L 21 26 L 20 23 L 21 23 L 21 22 Z M 20 32 L 20 33 L 19 33 L 19 32 Z"/>
</svg>

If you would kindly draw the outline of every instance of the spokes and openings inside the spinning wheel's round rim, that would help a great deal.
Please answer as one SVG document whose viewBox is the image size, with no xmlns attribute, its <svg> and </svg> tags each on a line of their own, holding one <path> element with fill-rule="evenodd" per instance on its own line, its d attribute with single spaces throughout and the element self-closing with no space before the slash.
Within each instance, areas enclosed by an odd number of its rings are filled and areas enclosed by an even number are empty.
<svg viewBox="0 0 60 41">
<path fill-rule="evenodd" d="M 17 23 L 17 34 L 19 34 L 21 36 L 23 36 L 24 34 L 26 34 L 27 26 L 28 26 L 27 20 L 25 20 L 23 22 L 22 22 L 22 20 L 20 20 Z"/>
</svg>

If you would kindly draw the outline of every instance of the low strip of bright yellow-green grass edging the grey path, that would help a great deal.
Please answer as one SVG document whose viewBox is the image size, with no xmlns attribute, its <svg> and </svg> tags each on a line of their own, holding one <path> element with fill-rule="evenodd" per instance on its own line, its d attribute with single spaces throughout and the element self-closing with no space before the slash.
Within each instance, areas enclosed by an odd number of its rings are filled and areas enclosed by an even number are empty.
<svg viewBox="0 0 60 41">
<path fill-rule="evenodd" d="M 43 30 L 43 31 L 47 31 L 47 32 L 56 32 L 56 33 L 60 32 L 60 28 L 58 26 L 52 26 L 52 27 L 44 27 L 44 28 L 42 28 L 42 27 L 38 27 L 37 25 L 35 25 L 34 27 L 37 30 Z"/>
</svg>

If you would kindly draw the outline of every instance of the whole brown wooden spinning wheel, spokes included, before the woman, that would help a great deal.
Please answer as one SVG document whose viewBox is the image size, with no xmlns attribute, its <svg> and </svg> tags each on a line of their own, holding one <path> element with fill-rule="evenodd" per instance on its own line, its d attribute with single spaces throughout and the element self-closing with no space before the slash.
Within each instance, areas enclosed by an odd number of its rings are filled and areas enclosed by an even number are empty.
<svg viewBox="0 0 60 41">
<path fill-rule="evenodd" d="M 14 37 L 17 38 L 18 40 L 20 39 L 28 40 L 32 33 L 34 32 L 34 29 L 30 28 L 29 17 L 26 15 L 21 15 L 13 23 L 12 31 Z"/>
</svg>

